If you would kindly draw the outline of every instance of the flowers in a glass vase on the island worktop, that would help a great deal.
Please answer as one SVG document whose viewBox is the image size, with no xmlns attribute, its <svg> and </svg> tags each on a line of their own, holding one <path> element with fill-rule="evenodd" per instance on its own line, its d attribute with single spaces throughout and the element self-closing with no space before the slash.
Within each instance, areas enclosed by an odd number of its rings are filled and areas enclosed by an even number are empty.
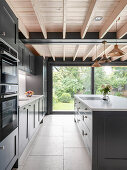
<svg viewBox="0 0 127 170">
<path fill-rule="evenodd" d="M 108 94 L 111 92 L 112 87 L 110 85 L 102 85 L 100 92 L 103 94 L 103 100 L 108 100 Z"/>
</svg>

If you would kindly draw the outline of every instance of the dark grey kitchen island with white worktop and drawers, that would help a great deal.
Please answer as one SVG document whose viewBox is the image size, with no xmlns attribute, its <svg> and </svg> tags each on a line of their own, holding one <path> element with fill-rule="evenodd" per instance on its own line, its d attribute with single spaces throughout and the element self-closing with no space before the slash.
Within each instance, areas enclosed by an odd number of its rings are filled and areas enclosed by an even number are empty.
<svg viewBox="0 0 127 170">
<path fill-rule="evenodd" d="M 127 169 L 127 99 L 75 95 L 75 117 L 91 170 Z"/>
</svg>

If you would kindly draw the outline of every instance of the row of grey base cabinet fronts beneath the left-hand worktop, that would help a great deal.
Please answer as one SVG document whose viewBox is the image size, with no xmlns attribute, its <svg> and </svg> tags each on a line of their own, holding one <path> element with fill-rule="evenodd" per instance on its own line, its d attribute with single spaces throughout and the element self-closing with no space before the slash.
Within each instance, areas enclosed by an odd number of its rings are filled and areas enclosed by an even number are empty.
<svg viewBox="0 0 127 170">
<path fill-rule="evenodd" d="M 29 140 L 35 133 L 39 124 L 43 120 L 44 113 L 43 106 L 44 98 L 40 97 L 29 104 L 19 108 L 19 155 L 23 153 Z"/>
</svg>

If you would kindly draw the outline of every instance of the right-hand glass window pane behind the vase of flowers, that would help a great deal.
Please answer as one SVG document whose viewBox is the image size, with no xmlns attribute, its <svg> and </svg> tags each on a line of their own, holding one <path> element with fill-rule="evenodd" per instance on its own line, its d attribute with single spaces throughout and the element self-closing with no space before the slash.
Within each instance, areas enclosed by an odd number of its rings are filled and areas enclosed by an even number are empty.
<svg viewBox="0 0 127 170">
<path fill-rule="evenodd" d="M 99 67 L 95 68 L 95 94 L 101 94 L 103 84 L 112 86 L 111 94 L 127 97 L 127 67 Z"/>
</svg>

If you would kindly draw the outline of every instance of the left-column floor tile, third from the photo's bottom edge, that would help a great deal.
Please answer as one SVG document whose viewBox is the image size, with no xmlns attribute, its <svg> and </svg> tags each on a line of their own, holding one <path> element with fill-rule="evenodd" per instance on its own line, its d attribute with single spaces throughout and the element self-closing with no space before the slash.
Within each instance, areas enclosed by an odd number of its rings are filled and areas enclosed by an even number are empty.
<svg viewBox="0 0 127 170">
<path fill-rule="evenodd" d="M 43 126 L 39 133 L 38 136 L 63 136 L 63 126 Z"/>
</svg>

